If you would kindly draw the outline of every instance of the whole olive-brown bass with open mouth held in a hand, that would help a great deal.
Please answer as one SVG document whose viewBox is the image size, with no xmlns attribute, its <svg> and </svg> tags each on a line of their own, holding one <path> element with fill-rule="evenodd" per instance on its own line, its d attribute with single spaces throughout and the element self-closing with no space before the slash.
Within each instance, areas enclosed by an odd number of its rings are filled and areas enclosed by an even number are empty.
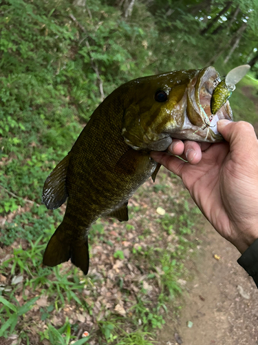
<svg viewBox="0 0 258 345">
<path fill-rule="evenodd" d="M 88 234 L 98 217 L 129 219 L 133 193 L 160 164 L 151 150 L 164 151 L 173 138 L 217 142 L 219 119 L 233 119 L 228 101 L 211 118 L 219 74 L 209 66 L 133 79 L 96 108 L 74 146 L 45 180 L 42 202 L 52 210 L 67 200 L 63 221 L 52 235 L 43 264 L 71 259 L 87 275 Z M 205 126 L 204 126 L 205 125 Z"/>
</svg>

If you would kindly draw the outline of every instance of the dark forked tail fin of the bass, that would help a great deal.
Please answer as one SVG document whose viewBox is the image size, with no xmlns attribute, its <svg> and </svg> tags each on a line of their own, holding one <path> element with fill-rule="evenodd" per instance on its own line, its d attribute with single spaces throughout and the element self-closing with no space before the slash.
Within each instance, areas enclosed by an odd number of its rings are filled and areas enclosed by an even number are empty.
<svg viewBox="0 0 258 345">
<path fill-rule="evenodd" d="M 71 258 L 72 263 L 87 275 L 89 270 L 88 237 L 80 245 L 73 244 L 72 239 L 65 241 L 65 229 L 63 227 L 64 225 L 61 223 L 48 242 L 43 257 L 43 265 L 53 267 L 67 262 Z"/>
</svg>

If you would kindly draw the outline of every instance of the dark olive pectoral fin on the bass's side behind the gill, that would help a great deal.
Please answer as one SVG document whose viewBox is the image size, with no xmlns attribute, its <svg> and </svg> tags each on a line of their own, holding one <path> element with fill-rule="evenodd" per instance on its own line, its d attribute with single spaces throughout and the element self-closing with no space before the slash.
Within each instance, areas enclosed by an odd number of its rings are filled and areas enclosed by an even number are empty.
<svg viewBox="0 0 258 345">
<path fill-rule="evenodd" d="M 128 175 L 141 174 L 148 168 L 151 157 L 146 151 L 136 151 L 130 148 L 119 159 L 116 164 L 116 171 Z"/>
</svg>

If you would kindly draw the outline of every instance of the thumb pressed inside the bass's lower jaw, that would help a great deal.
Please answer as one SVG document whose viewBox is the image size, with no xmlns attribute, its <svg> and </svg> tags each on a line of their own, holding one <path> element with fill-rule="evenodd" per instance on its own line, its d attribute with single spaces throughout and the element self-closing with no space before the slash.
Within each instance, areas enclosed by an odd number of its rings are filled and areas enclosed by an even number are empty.
<svg viewBox="0 0 258 345">
<path fill-rule="evenodd" d="M 255 130 L 246 121 L 219 120 L 217 122 L 217 129 L 230 144 L 230 150 L 241 148 L 241 150 L 244 149 L 244 151 L 250 152 L 254 146 L 257 146 Z"/>
</svg>

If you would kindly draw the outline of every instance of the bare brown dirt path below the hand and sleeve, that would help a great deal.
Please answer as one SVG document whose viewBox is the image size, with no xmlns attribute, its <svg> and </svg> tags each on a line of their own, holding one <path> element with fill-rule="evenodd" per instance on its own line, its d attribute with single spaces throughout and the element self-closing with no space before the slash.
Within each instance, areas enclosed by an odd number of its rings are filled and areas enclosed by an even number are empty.
<svg viewBox="0 0 258 345">
<path fill-rule="evenodd" d="M 202 237 L 200 253 L 189 266 L 193 281 L 187 284 L 182 315 L 166 322 L 160 344 L 258 344 L 255 283 L 237 264 L 237 249 L 208 222 Z M 191 328 L 189 322 L 193 323 Z"/>
</svg>

